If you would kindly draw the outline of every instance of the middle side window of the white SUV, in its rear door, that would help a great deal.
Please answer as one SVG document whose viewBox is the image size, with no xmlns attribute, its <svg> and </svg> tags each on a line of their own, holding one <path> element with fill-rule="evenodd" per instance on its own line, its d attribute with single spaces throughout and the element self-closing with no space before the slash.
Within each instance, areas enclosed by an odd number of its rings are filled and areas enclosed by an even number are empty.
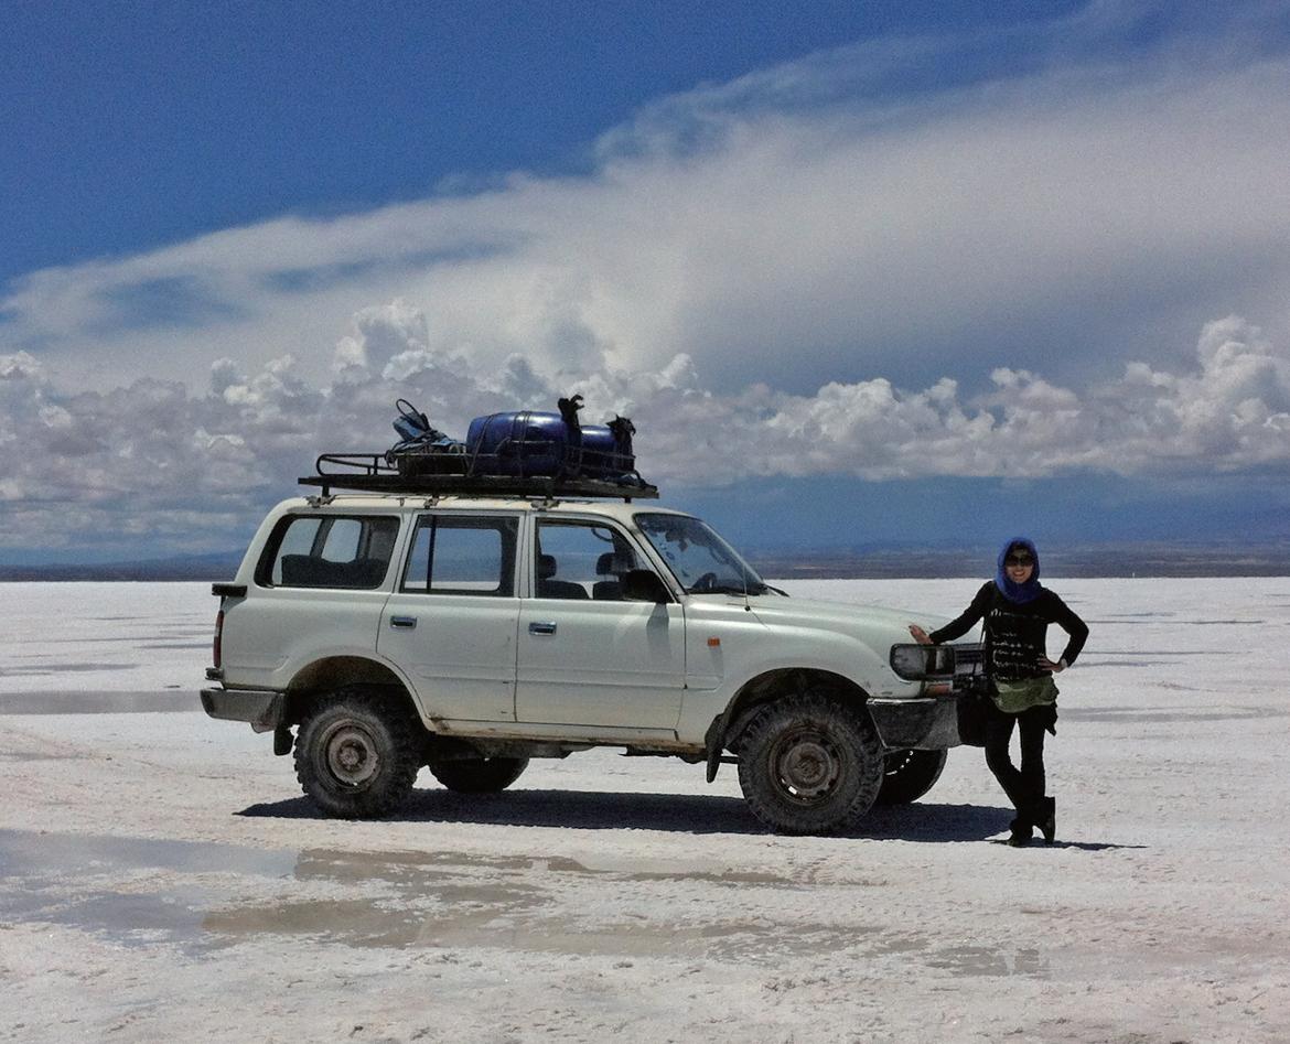
<svg viewBox="0 0 1290 1044">
<path fill-rule="evenodd" d="M 423 515 L 417 520 L 400 590 L 511 597 L 517 533 L 513 517 Z"/>
</svg>

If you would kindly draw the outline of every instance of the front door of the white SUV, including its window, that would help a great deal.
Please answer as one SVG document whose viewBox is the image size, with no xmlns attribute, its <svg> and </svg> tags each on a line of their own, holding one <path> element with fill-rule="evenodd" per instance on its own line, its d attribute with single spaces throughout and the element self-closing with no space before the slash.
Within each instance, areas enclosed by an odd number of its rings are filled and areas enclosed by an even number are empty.
<svg viewBox="0 0 1290 1044">
<path fill-rule="evenodd" d="M 620 578 L 648 568 L 608 520 L 539 517 L 520 608 L 516 720 L 675 736 L 685 687 L 681 605 L 627 601 Z"/>
</svg>

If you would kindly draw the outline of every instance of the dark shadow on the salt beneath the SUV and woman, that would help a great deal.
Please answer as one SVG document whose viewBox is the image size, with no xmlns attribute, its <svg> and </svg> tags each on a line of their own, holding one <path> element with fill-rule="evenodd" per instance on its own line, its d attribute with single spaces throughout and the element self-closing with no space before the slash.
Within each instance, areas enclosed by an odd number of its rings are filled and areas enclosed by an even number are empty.
<svg viewBox="0 0 1290 1044">
<path fill-rule="evenodd" d="M 307 798 L 250 805 L 239 816 L 273 819 L 326 819 Z M 983 841 L 1007 830 L 1010 808 L 915 803 L 873 808 L 840 839 L 902 841 Z M 676 834 L 773 835 L 742 798 L 686 794 L 632 794 L 591 790 L 508 790 L 464 795 L 414 790 L 384 822 L 477 823 L 571 830 L 662 830 Z M 1100 850 L 1121 845 L 1059 841 L 1053 848 Z"/>
</svg>

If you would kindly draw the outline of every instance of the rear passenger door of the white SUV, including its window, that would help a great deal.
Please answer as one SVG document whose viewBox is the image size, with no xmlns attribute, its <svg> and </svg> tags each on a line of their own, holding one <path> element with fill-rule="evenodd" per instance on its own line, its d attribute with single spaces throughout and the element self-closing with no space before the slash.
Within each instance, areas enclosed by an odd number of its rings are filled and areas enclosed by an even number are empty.
<svg viewBox="0 0 1290 1044">
<path fill-rule="evenodd" d="M 417 517 L 377 644 L 432 718 L 515 720 L 519 530 L 515 512 Z"/>
</svg>

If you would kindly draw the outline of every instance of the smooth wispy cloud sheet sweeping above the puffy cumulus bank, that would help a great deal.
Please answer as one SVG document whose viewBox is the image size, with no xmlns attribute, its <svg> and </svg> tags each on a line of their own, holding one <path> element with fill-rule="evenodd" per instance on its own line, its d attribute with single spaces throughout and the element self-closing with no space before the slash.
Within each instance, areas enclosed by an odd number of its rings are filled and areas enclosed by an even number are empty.
<svg viewBox="0 0 1290 1044">
<path fill-rule="evenodd" d="M 980 391 L 1002 365 L 1087 381 L 1227 311 L 1282 323 L 1290 61 L 1214 39 L 1108 66 L 1078 46 L 1108 32 L 1091 15 L 1010 32 L 664 98 L 577 177 L 36 272 L 0 301 L 0 351 L 63 383 L 191 385 L 214 357 L 285 355 L 320 382 L 361 361 L 324 347 L 335 330 L 397 298 L 426 320 L 369 346 L 392 372 L 457 352 L 650 373 L 684 354 L 713 387 L 811 395 L 875 373 Z M 971 77 L 935 80 L 960 58 Z"/>
</svg>

